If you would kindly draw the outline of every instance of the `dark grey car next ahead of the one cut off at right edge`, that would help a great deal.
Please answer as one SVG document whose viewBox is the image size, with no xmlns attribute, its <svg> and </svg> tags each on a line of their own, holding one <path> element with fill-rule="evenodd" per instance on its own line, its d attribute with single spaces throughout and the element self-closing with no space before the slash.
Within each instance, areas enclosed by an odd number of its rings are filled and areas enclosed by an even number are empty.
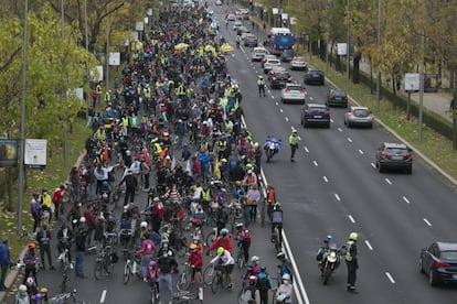
<svg viewBox="0 0 457 304">
<path fill-rule="evenodd" d="M 375 166 L 380 173 L 386 169 L 413 173 L 413 150 L 404 143 L 383 142 L 375 153 Z"/>
</svg>

